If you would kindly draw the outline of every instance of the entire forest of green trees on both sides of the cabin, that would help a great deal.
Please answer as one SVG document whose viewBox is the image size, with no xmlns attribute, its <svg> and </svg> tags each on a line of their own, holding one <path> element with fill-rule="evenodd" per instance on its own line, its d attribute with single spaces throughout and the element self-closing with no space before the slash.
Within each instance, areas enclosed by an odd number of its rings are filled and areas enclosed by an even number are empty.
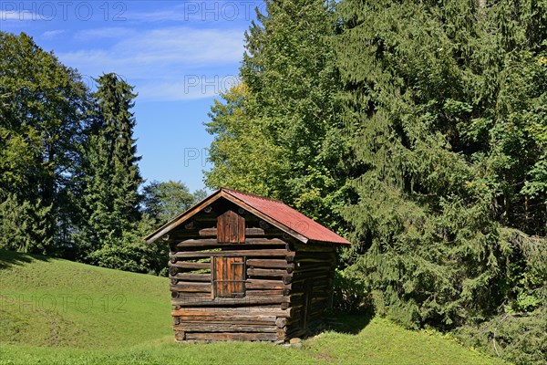
<svg viewBox="0 0 547 365">
<path fill-rule="evenodd" d="M 345 235 L 337 308 L 547 363 L 547 1 L 265 3 L 206 185 Z M 0 247 L 161 274 L 141 237 L 204 193 L 143 182 L 132 87 L 0 51 Z"/>
</svg>

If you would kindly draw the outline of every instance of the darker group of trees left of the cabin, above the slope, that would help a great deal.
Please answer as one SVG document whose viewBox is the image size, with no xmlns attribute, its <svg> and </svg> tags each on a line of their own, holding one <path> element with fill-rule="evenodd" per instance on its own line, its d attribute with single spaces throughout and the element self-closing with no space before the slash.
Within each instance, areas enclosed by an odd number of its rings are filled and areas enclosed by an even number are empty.
<svg viewBox="0 0 547 365">
<path fill-rule="evenodd" d="M 0 248 L 165 273 L 166 248 L 142 237 L 204 192 L 144 184 L 133 88 L 114 73 L 96 82 L 0 33 Z"/>
</svg>

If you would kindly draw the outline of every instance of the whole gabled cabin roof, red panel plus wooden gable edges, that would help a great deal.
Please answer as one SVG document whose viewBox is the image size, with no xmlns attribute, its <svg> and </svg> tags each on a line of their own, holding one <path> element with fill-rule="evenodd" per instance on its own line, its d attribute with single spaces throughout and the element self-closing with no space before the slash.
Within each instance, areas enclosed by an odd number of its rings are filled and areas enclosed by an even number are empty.
<svg viewBox="0 0 547 365">
<path fill-rule="evenodd" d="M 313 241 L 351 245 L 346 238 L 336 235 L 325 226 L 318 224 L 313 219 L 308 218 L 304 214 L 294 210 L 283 202 L 226 188 L 222 188 L 203 199 L 200 203 L 196 203 L 189 210 L 178 215 L 145 239 L 148 242 L 155 241 L 161 235 L 167 234 L 171 229 L 189 220 L 193 214 L 198 213 L 204 207 L 204 204 L 208 202 L 212 203 L 212 201 L 220 197 L 224 197 L 232 201 L 232 203 L 239 203 L 239 205 L 242 205 L 243 203 L 248 205 L 255 211 L 259 212 L 259 214 L 263 215 L 263 219 L 268 221 L 270 224 L 277 226 L 290 235 L 297 236 L 296 238 L 301 239 L 304 242 Z M 302 237 L 298 237 L 298 235 L 303 236 L 304 239 Z"/>
</svg>

